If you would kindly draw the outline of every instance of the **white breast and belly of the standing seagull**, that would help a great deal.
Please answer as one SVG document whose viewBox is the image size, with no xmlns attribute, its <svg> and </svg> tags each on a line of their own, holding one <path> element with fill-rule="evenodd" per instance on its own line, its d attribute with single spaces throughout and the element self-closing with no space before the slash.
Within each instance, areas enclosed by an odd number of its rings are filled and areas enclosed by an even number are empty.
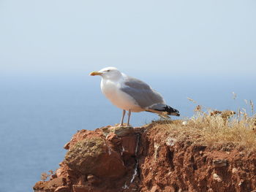
<svg viewBox="0 0 256 192">
<path fill-rule="evenodd" d="M 102 93 L 114 104 L 122 110 L 131 110 L 132 112 L 141 112 L 141 109 L 135 99 L 127 93 L 121 91 L 121 82 L 113 82 L 110 80 L 101 81 Z"/>
</svg>

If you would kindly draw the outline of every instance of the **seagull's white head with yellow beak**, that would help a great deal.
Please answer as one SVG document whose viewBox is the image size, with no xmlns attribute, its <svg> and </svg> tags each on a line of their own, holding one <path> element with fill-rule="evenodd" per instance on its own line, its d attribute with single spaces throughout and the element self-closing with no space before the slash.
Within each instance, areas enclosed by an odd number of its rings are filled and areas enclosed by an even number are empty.
<svg viewBox="0 0 256 192">
<path fill-rule="evenodd" d="M 103 79 L 108 80 L 118 80 L 122 76 L 121 72 L 119 72 L 118 69 L 116 69 L 116 67 L 113 66 L 108 66 L 103 69 L 100 69 L 99 72 L 91 72 L 90 75 L 100 75 Z"/>
</svg>

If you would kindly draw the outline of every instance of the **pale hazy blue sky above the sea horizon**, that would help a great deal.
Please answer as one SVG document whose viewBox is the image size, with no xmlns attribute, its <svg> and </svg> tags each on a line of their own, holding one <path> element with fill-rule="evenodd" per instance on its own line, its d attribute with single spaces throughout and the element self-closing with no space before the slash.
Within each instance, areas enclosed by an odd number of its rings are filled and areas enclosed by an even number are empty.
<svg viewBox="0 0 256 192">
<path fill-rule="evenodd" d="M 0 0 L 0 74 L 252 75 L 256 1 Z"/>
</svg>

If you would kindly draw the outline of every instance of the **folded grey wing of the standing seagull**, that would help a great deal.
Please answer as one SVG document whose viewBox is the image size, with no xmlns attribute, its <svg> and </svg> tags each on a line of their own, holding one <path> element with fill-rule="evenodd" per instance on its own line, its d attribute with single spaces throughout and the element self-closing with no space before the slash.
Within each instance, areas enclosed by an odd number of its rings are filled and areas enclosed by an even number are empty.
<svg viewBox="0 0 256 192">
<path fill-rule="evenodd" d="M 149 107 L 152 104 L 165 103 L 164 99 L 162 99 L 162 96 L 157 93 L 157 91 L 151 89 L 151 87 L 145 82 L 133 77 L 127 76 L 124 80 L 124 87 L 121 88 L 121 91 L 132 96 L 132 98 L 135 99 L 138 105 L 142 108 Z"/>
</svg>

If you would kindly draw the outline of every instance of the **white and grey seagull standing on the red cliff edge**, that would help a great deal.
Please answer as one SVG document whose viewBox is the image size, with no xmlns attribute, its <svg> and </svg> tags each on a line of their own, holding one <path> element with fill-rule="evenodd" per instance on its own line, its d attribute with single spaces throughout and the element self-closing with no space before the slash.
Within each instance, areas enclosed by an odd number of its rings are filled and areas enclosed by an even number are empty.
<svg viewBox="0 0 256 192">
<path fill-rule="evenodd" d="M 102 93 L 116 107 L 123 110 L 121 123 L 124 126 L 124 115 L 128 112 L 127 126 L 132 112 L 154 112 L 161 117 L 168 118 L 168 115 L 179 116 L 178 110 L 165 104 L 162 96 L 154 91 L 146 82 L 129 77 L 119 72 L 115 67 L 106 67 L 99 72 L 91 72 L 91 76 L 102 77 L 100 88 Z"/>
</svg>

